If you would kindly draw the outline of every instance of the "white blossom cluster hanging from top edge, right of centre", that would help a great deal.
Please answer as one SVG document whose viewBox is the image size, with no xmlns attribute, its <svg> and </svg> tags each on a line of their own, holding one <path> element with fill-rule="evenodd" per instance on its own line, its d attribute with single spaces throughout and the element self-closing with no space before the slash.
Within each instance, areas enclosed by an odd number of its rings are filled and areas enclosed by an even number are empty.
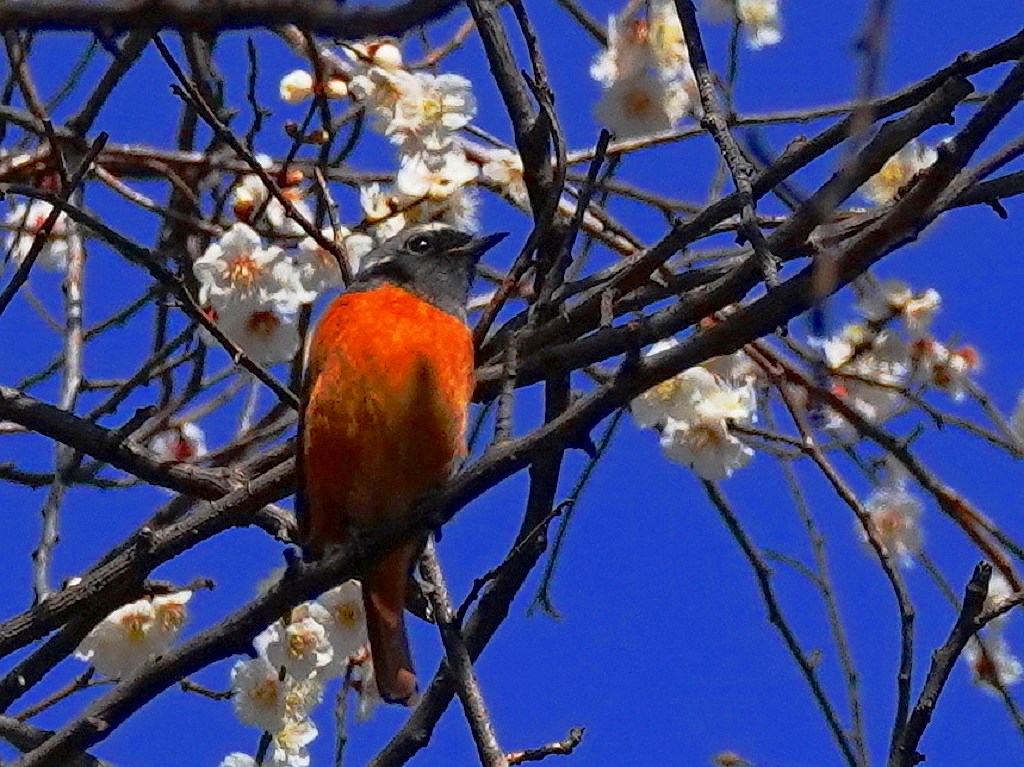
<svg viewBox="0 0 1024 767">
<path fill-rule="evenodd" d="M 612 16 L 608 47 L 591 77 L 604 86 L 595 116 L 620 138 L 671 130 L 699 112 L 683 28 L 672 0 L 651 0 L 645 17 Z"/>
</svg>

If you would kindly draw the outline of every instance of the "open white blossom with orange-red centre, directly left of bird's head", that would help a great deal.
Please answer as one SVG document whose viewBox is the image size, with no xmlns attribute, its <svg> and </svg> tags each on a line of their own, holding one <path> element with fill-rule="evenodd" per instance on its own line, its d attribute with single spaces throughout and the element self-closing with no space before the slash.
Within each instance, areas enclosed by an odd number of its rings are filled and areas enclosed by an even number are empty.
<svg viewBox="0 0 1024 767">
<path fill-rule="evenodd" d="M 233 224 L 193 264 L 196 279 L 215 308 L 230 303 L 267 304 L 283 286 L 274 274 L 280 248 L 264 248 L 260 236 L 244 223 Z"/>
</svg>

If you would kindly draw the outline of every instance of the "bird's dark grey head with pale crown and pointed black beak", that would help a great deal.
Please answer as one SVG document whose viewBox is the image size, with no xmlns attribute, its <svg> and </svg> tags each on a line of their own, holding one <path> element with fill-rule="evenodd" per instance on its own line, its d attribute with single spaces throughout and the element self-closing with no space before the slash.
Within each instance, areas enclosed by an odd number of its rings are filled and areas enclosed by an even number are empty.
<svg viewBox="0 0 1024 767">
<path fill-rule="evenodd" d="M 465 319 L 476 264 L 505 237 L 474 237 L 441 223 L 410 226 L 367 254 L 352 288 L 388 283 Z"/>
</svg>

